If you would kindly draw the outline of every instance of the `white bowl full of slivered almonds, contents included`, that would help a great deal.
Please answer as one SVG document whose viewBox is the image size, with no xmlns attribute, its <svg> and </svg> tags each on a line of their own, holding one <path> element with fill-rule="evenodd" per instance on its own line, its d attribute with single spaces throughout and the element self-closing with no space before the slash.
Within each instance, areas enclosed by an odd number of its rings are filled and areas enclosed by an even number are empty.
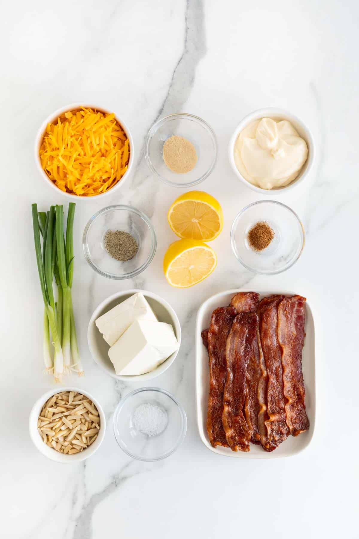
<svg viewBox="0 0 359 539">
<path fill-rule="evenodd" d="M 45 457 L 57 462 L 79 462 L 100 447 L 106 419 L 97 400 L 78 388 L 51 389 L 33 405 L 30 437 Z"/>
</svg>

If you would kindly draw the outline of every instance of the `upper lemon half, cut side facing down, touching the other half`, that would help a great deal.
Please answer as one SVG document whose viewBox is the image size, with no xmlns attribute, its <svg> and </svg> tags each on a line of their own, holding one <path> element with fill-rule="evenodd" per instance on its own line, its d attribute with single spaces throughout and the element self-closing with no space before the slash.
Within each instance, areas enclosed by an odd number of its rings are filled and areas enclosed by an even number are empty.
<svg viewBox="0 0 359 539">
<path fill-rule="evenodd" d="M 210 241 L 223 228 L 220 203 L 204 191 L 190 191 L 175 199 L 167 214 L 171 229 L 180 238 Z"/>
</svg>

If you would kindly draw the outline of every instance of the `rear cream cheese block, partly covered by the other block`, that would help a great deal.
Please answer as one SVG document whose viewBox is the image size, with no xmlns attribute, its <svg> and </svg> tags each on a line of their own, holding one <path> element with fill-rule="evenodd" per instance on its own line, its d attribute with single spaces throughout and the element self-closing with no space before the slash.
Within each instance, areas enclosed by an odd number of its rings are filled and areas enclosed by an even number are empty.
<svg viewBox="0 0 359 539">
<path fill-rule="evenodd" d="M 108 313 L 103 314 L 95 323 L 104 340 L 112 346 L 135 320 L 151 320 L 157 322 L 157 317 L 143 294 L 133 294 Z"/>
</svg>

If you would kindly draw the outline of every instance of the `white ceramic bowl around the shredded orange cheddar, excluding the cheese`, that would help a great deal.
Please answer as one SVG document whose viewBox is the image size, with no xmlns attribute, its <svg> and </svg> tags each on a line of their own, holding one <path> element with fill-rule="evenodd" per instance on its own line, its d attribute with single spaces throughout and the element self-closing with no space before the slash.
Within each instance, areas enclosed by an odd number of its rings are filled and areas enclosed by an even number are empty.
<svg viewBox="0 0 359 539">
<path fill-rule="evenodd" d="M 113 195 L 118 189 L 121 189 L 121 187 L 124 184 L 126 178 L 129 177 L 129 175 L 131 173 L 131 169 L 133 167 L 133 163 L 135 162 L 135 159 L 134 159 L 135 152 L 134 152 L 134 148 L 133 148 L 132 135 L 130 133 L 129 128 L 126 126 L 125 122 L 123 120 L 121 120 L 121 118 L 118 118 L 118 116 L 116 114 L 115 114 L 115 120 L 123 128 L 124 132 L 126 133 L 126 135 L 128 137 L 129 143 L 130 143 L 130 160 L 129 160 L 128 169 L 126 170 L 125 174 L 122 176 L 120 181 L 116 183 L 116 185 L 111 187 L 111 189 L 109 189 L 108 191 L 106 191 L 104 193 L 101 193 L 101 195 L 95 195 L 93 197 L 79 197 L 77 195 L 72 195 L 71 193 L 66 193 L 64 191 L 61 191 L 61 189 L 59 189 L 54 184 L 54 182 L 52 182 L 51 179 L 47 176 L 47 174 L 46 174 L 45 170 L 43 169 L 43 167 L 41 167 L 39 150 L 40 150 L 41 142 L 43 141 L 43 136 L 44 136 L 47 124 L 53 122 L 54 120 L 59 118 L 59 116 L 61 116 L 61 114 L 64 114 L 68 110 L 77 110 L 80 107 L 93 108 L 95 110 L 98 110 L 98 111 L 106 113 L 106 114 L 111 114 L 111 112 L 112 112 L 111 110 L 105 109 L 103 107 L 97 107 L 96 105 L 89 105 L 88 103 L 72 103 L 72 105 L 67 105 L 66 107 L 62 107 L 62 108 L 59 108 L 58 110 L 55 110 L 55 112 L 50 114 L 50 116 L 48 116 L 48 118 L 46 118 L 46 120 L 41 124 L 40 129 L 38 130 L 38 133 L 36 135 L 36 139 L 35 139 L 35 162 L 37 164 L 37 167 L 38 167 L 38 170 L 39 170 L 41 176 L 43 176 L 43 178 L 44 178 L 45 182 L 47 183 L 47 185 L 51 185 L 51 187 L 53 189 L 55 189 L 55 191 L 57 192 L 58 195 L 59 194 L 64 195 L 67 198 L 73 199 L 73 201 L 75 201 L 75 200 L 76 201 L 78 201 L 78 200 L 91 200 L 91 198 L 93 198 L 93 199 L 95 198 L 97 200 L 98 198 L 103 198 L 103 197 L 105 197 L 105 196 L 107 196 L 109 194 Z"/>
</svg>

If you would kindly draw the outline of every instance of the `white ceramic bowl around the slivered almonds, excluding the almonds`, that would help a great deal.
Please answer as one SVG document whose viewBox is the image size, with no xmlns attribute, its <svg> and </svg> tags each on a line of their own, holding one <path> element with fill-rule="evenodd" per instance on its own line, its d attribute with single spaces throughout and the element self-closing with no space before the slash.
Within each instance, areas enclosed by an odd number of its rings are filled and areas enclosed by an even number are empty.
<svg viewBox="0 0 359 539">
<path fill-rule="evenodd" d="M 85 395 L 92 400 L 98 410 L 98 414 L 100 414 L 100 429 L 98 430 L 98 436 L 94 443 L 81 451 L 81 453 L 74 453 L 73 455 L 64 455 L 63 453 L 58 453 L 52 447 L 48 447 L 48 445 L 44 444 L 44 441 L 40 437 L 40 434 L 37 430 L 37 421 L 41 408 L 44 406 L 47 399 L 49 399 L 52 395 L 55 395 L 56 393 L 61 393 L 61 391 L 77 391 L 78 393 Z M 85 460 L 88 459 L 88 457 L 91 457 L 91 455 L 93 455 L 95 451 L 98 450 L 98 447 L 100 447 L 100 445 L 102 444 L 103 438 L 105 436 L 105 430 L 106 418 L 101 405 L 88 391 L 79 388 L 73 388 L 70 386 L 65 386 L 62 388 L 52 388 L 49 391 L 46 391 L 44 395 L 41 395 L 41 397 L 37 399 L 30 412 L 29 432 L 30 438 L 33 441 L 34 446 L 48 459 L 55 460 L 56 462 L 64 462 L 64 464 L 73 464 L 74 462 L 80 462 L 81 460 Z"/>
</svg>

